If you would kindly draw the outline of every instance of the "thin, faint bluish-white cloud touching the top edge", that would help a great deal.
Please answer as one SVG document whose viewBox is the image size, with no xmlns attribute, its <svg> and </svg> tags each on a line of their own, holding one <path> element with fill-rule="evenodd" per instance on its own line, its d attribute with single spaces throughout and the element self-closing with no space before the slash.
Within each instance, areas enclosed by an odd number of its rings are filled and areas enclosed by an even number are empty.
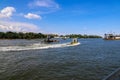
<svg viewBox="0 0 120 80">
<path fill-rule="evenodd" d="M 30 7 L 45 7 L 45 8 L 59 8 L 59 5 L 54 0 L 34 0 L 29 3 Z"/>
</svg>

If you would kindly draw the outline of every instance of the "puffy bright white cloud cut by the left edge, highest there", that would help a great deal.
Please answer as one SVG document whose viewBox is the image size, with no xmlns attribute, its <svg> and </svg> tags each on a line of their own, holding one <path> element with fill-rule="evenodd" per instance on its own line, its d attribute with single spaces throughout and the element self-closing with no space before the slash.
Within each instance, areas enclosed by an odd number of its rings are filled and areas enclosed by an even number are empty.
<svg viewBox="0 0 120 80">
<path fill-rule="evenodd" d="M 14 7 L 5 7 L 0 11 L 0 18 L 10 18 L 15 11 Z"/>
</svg>

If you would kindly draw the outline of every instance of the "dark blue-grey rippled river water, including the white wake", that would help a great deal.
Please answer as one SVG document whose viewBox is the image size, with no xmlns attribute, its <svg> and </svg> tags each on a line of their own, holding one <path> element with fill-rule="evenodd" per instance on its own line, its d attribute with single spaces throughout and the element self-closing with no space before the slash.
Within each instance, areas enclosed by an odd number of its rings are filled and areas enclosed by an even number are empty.
<svg viewBox="0 0 120 80">
<path fill-rule="evenodd" d="M 120 67 L 119 40 L 70 41 L 0 40 L 0 80 L 102 80 Z"/>
</svg>

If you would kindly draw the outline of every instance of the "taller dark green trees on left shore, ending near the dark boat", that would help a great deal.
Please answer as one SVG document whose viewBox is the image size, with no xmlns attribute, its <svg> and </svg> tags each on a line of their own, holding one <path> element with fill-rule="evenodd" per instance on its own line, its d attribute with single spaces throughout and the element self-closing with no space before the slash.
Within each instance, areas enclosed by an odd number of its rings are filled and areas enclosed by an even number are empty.
<svg viewBox="0 0 120 80">
<path fill-rule="evenodd" d="M 42 33 L 23 33 L 23 32 L 0 32 L 0 39 L 39 39 L 46 38 L 46 35 Z"/>
</svg>

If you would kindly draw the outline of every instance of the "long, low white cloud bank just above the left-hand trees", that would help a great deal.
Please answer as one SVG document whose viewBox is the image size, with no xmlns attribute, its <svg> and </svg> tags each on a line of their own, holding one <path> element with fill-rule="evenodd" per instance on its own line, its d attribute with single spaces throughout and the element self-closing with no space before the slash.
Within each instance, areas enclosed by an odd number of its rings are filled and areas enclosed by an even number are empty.
<svg viewBox="0 0 120 80">
<path fill-rule="evenodd" d="M 0 21 L 0 31 L 40 32 L 38 26 L 23 22 Z"/>
</svg>

